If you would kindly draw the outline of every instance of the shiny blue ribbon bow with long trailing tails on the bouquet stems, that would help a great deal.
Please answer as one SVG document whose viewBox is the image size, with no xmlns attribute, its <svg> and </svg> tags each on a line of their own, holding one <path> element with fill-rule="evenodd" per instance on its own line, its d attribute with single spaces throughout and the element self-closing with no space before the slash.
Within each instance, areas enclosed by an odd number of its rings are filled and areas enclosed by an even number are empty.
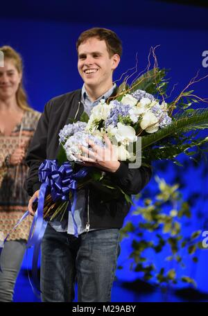
<svg viewBox="0 0 208 316">
<path fill-rule="evenodd" d="M 74 235 L 78 237 L 78 227 L 76 225 L 76 221 L 74 219 L 74 212 L 76 209 L 76 201 L 77 201 L 77 180 L 82 179 L 87 175 L 90 168 L 82 168 L 77 173 L 73 173 L 73 169 L 71 168 L 71 164 L 69 162 L 64 162 L 60 168 L 58 168 L 58 162 L 56 160 L 46 159 L 39 168 L 39 179 L 42 182 L 40 186 L 40 193 L 37 204 L 37 211 L 35 212 L 35 216 L 33 218 L 33 223 L 31 225 L 31 231 L 28 237 L 28 243 L 26 247 L 34 246 L 33 253 L 33 281 L 37 289 L 39 289 L 38 285 L 38 277 L 37 277 L 37 261 L 40 252 L 40 245 L 42 243 L 42 238 L 44 236 L 44 231 L 46 230 L 47 222 L 43 218 L 44 211 L 44 200 L 47 193 L 51 193 L 51 198 L 53 202 L 58 200 L 62 200 L 63 202 L 68 201 L 67 211 L 71 211 L 73 226 L 74 226 Z M 73 204 L 71 206 L 71 201 L 69 200 L 69 193 L 73 194 Z M 36 202 L 37 199 L 34 201 Z M 12 229 L 15 230 L 17 226 L 28 216 L 29 212 L 26 211 L 24 216 L 18 220 L 15 227 Z M 68 220 L 68 230 L 69 231 L 69 220 Z M 10 234 L 8 234 L 9 236 Z M 8 238 L 6 236 L 6 239 Z M 0 247 L 1 254 L 1 247 Z M 1 270 L 1 267 L 0 267 Z"/>
</svg>

